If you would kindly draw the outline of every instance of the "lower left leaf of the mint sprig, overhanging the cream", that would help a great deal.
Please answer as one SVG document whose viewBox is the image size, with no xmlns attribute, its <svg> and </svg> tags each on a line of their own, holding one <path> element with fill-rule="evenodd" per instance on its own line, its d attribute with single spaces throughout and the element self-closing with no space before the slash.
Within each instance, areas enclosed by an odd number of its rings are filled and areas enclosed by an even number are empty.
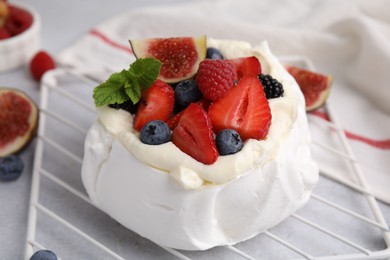
<svg viewBox="0 0 390 260">
<path fill-rule="evenodd" d="M 128 71 L 122 70 L 112 74 L 104 83 L 93 90 L 93 98 L 97 107 L 123 103 L 129 99 L 124 91 L 124 85 L 128 81 Z"/>
</svg>

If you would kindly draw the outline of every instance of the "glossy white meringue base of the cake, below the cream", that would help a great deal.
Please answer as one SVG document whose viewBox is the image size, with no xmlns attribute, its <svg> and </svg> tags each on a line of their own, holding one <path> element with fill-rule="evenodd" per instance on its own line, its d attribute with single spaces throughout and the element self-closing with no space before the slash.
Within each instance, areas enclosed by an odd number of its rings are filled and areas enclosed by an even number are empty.
<svg viewBox="0 0 390 260">
<path fill-rule="evenodd" d="M 297 142 L 295 133 L 302 130 L 294 129 L 286 142 Z M 307 145 L 280 149 L 262 169 L 226 184 L 186 190 L 169 174 L 140 163 L 99 122 L 85 144 L 82 177 L 93 202 L 141 236 L 177 249 L 249 239 L 304 205 L 318 179 Z"/>
</svg>

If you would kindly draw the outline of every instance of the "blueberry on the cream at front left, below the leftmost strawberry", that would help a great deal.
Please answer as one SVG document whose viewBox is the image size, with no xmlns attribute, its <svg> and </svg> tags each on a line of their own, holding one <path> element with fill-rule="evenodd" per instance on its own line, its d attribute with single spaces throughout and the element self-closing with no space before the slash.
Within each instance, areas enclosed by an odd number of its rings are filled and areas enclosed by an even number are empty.
<svg viewBox="0 0 390 260">
<path fill-rule="evenodd" d="M 165 122 L 152 120 L 142 127 L 140 139 L 144 144 L 163 144 L 171 140 L 171 130 Z"/>
</svg>

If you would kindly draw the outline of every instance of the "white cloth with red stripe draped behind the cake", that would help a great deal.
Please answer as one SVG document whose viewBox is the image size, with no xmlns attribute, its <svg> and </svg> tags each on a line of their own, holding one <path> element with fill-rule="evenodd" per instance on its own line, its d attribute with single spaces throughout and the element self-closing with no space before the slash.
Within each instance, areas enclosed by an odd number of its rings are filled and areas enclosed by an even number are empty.
<svg viewBox="0 0 390 260">
<path fill-rule="evenodd" d="M 390 203 L 390 8 L 386 0 L 215 0 L 133 9 L 93 28 L 61 52 L 58 60 L 80 69 L 117 71 L 134 60 L 128 39 L 203 34 L 253 45 L 267 40 L 275 55 L 307 56 L 318 71 L 333 75 L 328 105 L 347 131 L 370 191 Z M 321 128 L 312 124 L 313 139 L 338 146 L 334 131 L 327 129 L 324 134 Z M 314 154 L 321 168 L 354 179 L 339 156 Z"/>
</svg>

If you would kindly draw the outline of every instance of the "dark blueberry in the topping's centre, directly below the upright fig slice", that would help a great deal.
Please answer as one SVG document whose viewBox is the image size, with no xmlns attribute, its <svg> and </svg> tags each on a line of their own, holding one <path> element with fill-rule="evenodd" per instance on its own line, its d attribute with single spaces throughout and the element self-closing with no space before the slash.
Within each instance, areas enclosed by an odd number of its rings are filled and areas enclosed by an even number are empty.
<svg viewBox="0 0 390 260">
<path fill-rule="evenodd" d="M 184 80 L 175 88 L 175 102 L 181 107 L 187 107 L 190 103 L 202 98 L 202 93 L 195 80 Z"/>
</svg>

